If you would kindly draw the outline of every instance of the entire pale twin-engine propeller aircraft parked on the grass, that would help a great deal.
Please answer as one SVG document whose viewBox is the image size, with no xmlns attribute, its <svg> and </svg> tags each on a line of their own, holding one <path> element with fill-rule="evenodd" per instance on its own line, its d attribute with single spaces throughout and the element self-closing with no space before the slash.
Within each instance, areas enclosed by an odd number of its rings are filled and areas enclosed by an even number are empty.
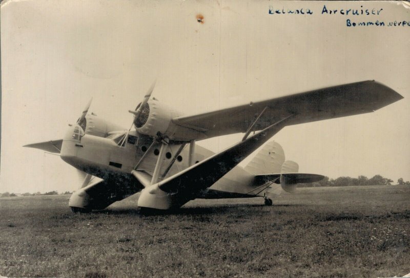
<svg viewBox="0 0 410 278">
<path fill-rule="evenodd" d="M 323 176 L 298 173 L 275 142 L 242 168 L 245 157 L 285 126 L 373 112 L 403 98 L 381 83 L 362 81 L 183 115 L 151 98 L 153 90 L 129 110 L 130 129 L 89 114 L 90 101 L 63 139 L 25 146 L 58 153 L 86 173 L 70 198 L 73 212 L 101 210 L 137 192 L 145 210 L 170 210 L 196 198 L 263 197 L 272 205 L 280 191 Z M 242 140 L 218 153 L 196 145 L 233 133 L 244 133 Z"/>
</svg>

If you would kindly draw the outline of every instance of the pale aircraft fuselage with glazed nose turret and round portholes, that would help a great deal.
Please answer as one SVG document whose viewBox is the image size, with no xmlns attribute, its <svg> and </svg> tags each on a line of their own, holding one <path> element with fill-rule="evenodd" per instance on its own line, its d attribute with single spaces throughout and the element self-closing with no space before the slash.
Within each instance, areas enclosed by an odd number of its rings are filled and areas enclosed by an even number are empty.
<svg viewBox="0 0 410 278">
<path fill-rule="evenodd" d="M 88 122 L 96 121 L 95 116 L 88 117 Z M 101 122 L 101 120 L 98 120 Z M 97 121 L 96 121 L 97 122 Z M 118 128 L 118 127 L 116 127 Z M 126 188 L 122 192 L 116 190 L 115 200 L 126 198 L 143 190 L 145 187 L 133 177 L 131 172 L 138 169 L 150 176 L 157 164 L 161 142 L 152 136 L 125 131 L 115 131 L 112 134 L 105 130 L 98 132 L 86 128 L 72 126 L 64 137 L 60 157 L 66 163 L 84 171 L 87 174 L 104 179 L 108 187 Z M 121 130 L 121 129 L 119 129 Z M 95 134 L 95 135 L 93 135 Z M 107 136 L 108 135 L 108 136 Z M 189 144 L 178 153 L 181 144 L 169 144 L 163 156 L 158 181 L 166 179 L 190 167 Z M 201 146 L 195 147 L 192 164 L 210 157 L 214 153 Z M 249 195 L 252 191 L 254 175 L 237 166 L 219 179 L 211 188 L 203 192 L 201 198 L 235 198 L 257 197 Z"/>
</svg>

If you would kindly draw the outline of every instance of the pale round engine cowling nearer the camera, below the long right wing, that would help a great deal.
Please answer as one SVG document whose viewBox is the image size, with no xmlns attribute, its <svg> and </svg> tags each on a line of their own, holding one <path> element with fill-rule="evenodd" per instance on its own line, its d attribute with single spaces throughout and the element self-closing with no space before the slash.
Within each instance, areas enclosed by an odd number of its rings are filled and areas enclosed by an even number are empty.
<svg viewBox="0 0 410 278">
<path fill-rule="evenodd" d="M 140 105 L 138 104 L 135 110 Z M 162 136 L 173 139 L 178 126 L 172 123 L 172 119 L 179 115 L 180 113 L 169 106 L 156 99 L 151 99 L 144 105 L 139 117 L 134 118 L 134 126 L 138 133 L 156 137 L 160 132 Z"/>
</svg>

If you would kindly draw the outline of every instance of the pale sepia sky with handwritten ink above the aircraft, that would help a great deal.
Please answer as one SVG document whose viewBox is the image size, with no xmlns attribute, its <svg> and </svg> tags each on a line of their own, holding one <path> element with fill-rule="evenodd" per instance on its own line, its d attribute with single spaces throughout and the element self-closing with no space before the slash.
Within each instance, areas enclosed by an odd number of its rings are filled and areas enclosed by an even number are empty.
<svg viewBox="0 0 410 278">
<path fill-rule="evenodd" d="M 91 97 L 90 111 L 129 127 L 128 109 L 154 80 L 153 96 L 186 115 L 377 80 L 404 99 L 285 127 L 273 140 L 300 172 L 410 180 L 410 26 L 346 23 L 410 21 L 409 11 L 397 2 L 4 1 L 0 193 L 78 189 L 74 168 L 22 146 L 63 137 Z M 242 136 L 198 145 L 218 151 Z"/>
</svg>

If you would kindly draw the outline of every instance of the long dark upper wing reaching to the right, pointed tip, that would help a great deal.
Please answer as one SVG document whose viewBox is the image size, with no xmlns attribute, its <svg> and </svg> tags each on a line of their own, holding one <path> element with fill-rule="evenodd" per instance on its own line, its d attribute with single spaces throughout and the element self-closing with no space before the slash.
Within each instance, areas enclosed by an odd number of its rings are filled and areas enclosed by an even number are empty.
<svg viewBox="0 0 410 278">
<path fill-rule="evenodd" d="M 294 117 L 286 125 L 373 112 L 402 98 L 396 91 L 379 82 L 362 81 L 203 114 L 176 117 L 172 122 L 197 130 L 210 138 L 246 132 L 265 107 L 267 109 L 255 124 L 255 130 L 261 130 L 289 115 Z"/>
</svg>

